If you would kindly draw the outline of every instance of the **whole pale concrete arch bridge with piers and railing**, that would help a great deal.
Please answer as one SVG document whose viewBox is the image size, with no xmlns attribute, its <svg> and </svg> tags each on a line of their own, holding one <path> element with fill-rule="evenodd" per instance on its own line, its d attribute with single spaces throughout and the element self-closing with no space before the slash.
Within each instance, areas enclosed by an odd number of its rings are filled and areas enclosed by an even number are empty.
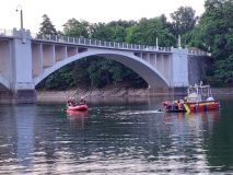
<svg viewBox="0 0 233 175">
<path fill-rule="evenodd" d="M 30 31 L 0 30 L 0 84 L 13 103 L 35 102 L 35 86 L 61 67 L 90 56 L 116 60 L 143 78 L 150 89 L 188 86 L 190 59 L 200 50 L 113 43 L 65 36 L 36 36 Z M 198 78 L 197 78 L 198 79 Z M 10 96 L 10 97 L 9 97 Z"/>
</svg>

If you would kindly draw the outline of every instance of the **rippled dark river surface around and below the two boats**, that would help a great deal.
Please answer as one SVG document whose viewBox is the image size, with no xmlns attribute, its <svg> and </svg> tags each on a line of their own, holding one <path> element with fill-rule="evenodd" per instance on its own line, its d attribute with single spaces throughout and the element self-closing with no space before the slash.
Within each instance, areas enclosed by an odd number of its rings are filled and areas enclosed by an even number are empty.
<svg viewBox="0 0 233 175">
<path fill-rule="evenodd" d="M 161 100 L 0 105 L 0 174 L 231 174 L 233 98 L 159 113 Z"/>
</svg>

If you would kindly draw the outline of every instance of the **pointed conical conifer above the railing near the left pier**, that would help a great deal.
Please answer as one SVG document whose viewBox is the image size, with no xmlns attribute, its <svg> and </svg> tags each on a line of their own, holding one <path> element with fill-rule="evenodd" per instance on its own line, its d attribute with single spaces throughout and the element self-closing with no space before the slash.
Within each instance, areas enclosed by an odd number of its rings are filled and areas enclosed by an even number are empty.
<svg viewBox="0 0 233 175">
<path fill-rule="evenodd" d="M 43 15 L 43 22 L 40 23 L 39 34 L 57 35 L 57 31 L 47 14 Z"/>
</svg>

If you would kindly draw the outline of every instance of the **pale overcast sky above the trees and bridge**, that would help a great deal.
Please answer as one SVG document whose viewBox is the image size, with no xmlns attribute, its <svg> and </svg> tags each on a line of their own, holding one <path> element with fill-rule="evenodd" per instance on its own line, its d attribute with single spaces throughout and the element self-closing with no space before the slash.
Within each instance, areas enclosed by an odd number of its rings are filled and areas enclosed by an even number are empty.
<svg viewBox="0 0 233 175">
<path fill-rule="evenodd" d="M 69 19 L 91 23 L 117 20 L 154 18 L 176 11 L 179 7 L 191 7 L 196 15 L 203 12 L 205 0 L 1 0 L 0 28 L 20 28 L 20 13 L 23 10 L 24 28 L 38 32 L 43 14 L 47 14 L 57 30 L 62 30 Z M 19 8 L 20 10 L 20 8 Z"/>
</svg>

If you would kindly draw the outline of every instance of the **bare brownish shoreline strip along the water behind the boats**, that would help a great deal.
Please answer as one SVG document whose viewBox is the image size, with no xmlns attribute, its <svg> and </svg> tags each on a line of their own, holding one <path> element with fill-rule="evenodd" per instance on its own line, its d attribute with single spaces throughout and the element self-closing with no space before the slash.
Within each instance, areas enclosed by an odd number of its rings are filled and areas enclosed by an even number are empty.
<svg viewBox="0 0 233 175">
<path fill-rule="evenodd" d="M 78 92 L 78 94 L 77 94 Z M 145 98 L 145 97 L 171 97 L 173 94 L 168 92 L 155 92 L 150 94 L 149 89 L 96 89 L 96 90 L 68 90 L 68 91 L 37 91 L 36 102 L 66 102 L 69 96 L 77 94 L 84 96 L 86 100 L 100 101 L 106 98 Z M 175 94 L 175 96 L 185 96 L 185 93 Z M 212 89 L 214 97 L 233 97 L 233 88 Z"/>
</svg>

